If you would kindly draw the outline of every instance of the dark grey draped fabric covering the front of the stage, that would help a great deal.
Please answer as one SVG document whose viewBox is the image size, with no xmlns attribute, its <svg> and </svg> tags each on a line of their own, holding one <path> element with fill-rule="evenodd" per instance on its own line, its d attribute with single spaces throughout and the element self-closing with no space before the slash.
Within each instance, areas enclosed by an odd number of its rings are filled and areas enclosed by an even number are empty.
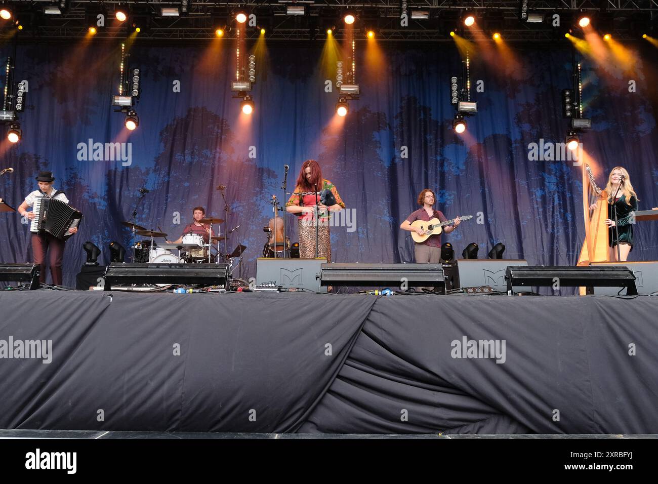
<svg viewBox="0 0 658 484">
<path fill-rule="evenodd" d="M 36 290 L 0 306 L 1 429 L 658 433 L 649 296 Z"/>
</svg>

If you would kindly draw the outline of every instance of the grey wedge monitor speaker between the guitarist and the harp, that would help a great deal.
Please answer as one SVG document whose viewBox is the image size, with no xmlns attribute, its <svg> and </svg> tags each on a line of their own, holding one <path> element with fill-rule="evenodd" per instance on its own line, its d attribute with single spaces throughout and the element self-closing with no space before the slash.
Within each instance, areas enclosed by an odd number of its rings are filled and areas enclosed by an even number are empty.
<svg viewBox="0 0 658 484">
<path fill-rule="evenodd" d="M 510 265 L 524 267 L 528 261 L 524 259 L 457 259 L 457 273 L 459 280 L 456 287 L 490 286 L 493 290 L 507 292 L 505 272 Z M 516 292 L 528 288 L 515 288 Z"/>
</svg>

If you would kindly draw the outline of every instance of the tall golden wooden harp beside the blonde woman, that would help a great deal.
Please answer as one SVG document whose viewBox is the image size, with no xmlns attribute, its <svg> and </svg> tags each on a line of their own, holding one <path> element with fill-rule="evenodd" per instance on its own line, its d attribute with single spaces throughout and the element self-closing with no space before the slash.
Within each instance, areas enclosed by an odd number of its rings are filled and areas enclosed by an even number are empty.
<svg viewBox="0 0 658 484">
<path fill-rule="evenodd" d="M 590 206 L 594 203 L 595 209 L 590 210 Z M 592 169 L 586 163 L 582 165 L 582 207 L 585 217 L 585 241 L 576 265 L 607 261 L 608 227 L 605 225 L 605 219 L 608 218 L 607 193 L 596 185 Z"/>
</svg>

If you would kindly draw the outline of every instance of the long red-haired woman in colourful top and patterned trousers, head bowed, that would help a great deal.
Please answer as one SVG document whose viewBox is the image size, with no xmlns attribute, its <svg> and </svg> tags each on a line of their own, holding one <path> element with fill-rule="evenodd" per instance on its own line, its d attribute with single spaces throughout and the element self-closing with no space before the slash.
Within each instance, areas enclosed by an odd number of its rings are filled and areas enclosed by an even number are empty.
<svg viewBox="0 0 658 484">
<path fill-rule="evenodd" d="M 324 201 L 332 203 L 324 205 L 320 202 L 320 193 L 326 196 Z M 303 195 L 301 195 L 303 194 Z M 329 202 L 327 202 L 329 200 Z M 315 159 L 307 159 L 297 176 L 295 195 L 286 203 L 288 213 L 297 215 L 299 227 L 299 257 L 311 259 L 315 257 L 315 228 L 318 228 L 318 257 L 326 257 L 331 261 L 331 239 L 329 236 L 329 211 L 345 208 L 336 186 L 322 178 L 322 170 Z M 317 214 L 317 217 L 314 215 Z"/>
</svg>

